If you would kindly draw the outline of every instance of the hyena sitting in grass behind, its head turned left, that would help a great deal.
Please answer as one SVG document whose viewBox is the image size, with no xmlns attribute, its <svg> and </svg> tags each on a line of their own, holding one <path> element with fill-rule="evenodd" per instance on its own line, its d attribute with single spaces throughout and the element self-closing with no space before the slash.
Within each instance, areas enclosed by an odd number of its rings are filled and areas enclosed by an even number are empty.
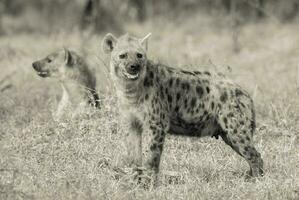
<svg viewBox="0 0 299 200">
<path fill-rule="evenodd" d="M 34 62 L 32 66 L 39 76 L 53 77 L 61 83 L 63 93 L 54 114 L 55 120 L 60 120 L 70 102 L 78 105 L 88 102 L 97 108 L 100 107 L 96 77 L 87 62 L 74 51 L 56 51 Z M 80 106 L 77 109 L 80 109 Z"/>
</svg>

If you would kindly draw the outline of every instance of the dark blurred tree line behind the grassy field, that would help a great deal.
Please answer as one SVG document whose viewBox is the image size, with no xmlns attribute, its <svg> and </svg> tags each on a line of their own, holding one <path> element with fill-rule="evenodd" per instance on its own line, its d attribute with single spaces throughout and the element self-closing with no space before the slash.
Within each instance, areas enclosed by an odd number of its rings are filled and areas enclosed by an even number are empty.
<svg viewBox="0 0 299 200">
<path fill-rule="evenodd" d="M 53 33 L 74 29 L 122 31 L 129 21 L 142 23 L 205 14 L 233 16 L 233 24 L 260 20 L 290 23 L 298 18 L 298 0 L 1 0 L 0 33 Z M 219 22 L 221 23 L 221 21 Z"/>
</svg>

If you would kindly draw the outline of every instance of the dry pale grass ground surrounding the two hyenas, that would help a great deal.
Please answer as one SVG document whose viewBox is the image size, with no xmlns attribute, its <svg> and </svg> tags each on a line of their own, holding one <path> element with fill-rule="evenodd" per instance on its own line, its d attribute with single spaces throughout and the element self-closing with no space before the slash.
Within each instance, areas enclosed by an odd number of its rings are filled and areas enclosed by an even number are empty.
<svg viewBox="0 0 299 200">
<path fill-rule="evenodd" d="M 11 87 L 0 93 L 0 199 L 299 199 L 298 24 L 248 23 L 234 53 L 229 23 L 195 15 L 130 23 L 125 30 L 140 37 L 152 32 L 151 59 L 222 70 L 253 95 L 263 178 L 246 181 L 247 163 L 221 139 L 169 136 L 159 187 L 139 187 L 121 170 L 126 147 L 103 64 L 109 60 L 100 49 L 103 35 L 83 44 L 97 63 L 102 110 L 57 123 L 51 114 L 59 85 L 38 77 L 31 63 L 63 46 L 82 49 L 82 35 L 22 33 L 0 38 L 1 79 L 12 73 Z"/>
</svg>

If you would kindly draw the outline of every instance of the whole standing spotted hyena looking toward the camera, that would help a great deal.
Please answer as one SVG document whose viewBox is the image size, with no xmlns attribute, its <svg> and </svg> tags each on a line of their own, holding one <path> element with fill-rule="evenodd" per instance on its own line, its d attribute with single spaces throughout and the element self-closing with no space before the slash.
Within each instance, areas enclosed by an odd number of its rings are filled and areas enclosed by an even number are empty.
<svg viewBox="0 0 299 200">
<path fill-rule="evenodd" d="M 121 113 L 130 130 L 132 162 L 142 165 L 141 133 L 151 134 L 147 170 L 159 171 L 165 134 L 221 136 L 250 165 L 250 175 L 263 173 L 263 161 L 253 145 L 253 101 L 224 76 L 185 71 L 147 59 L 147 38 L 107 34 L 102 46 L 111 53 L 111 76 Z"/>
</svg>

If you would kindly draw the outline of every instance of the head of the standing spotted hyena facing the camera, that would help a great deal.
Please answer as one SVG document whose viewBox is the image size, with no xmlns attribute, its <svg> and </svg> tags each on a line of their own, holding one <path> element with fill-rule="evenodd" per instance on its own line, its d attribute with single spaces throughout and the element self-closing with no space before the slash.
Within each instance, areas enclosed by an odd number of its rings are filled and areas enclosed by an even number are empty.
<svg viewBox="0 0 299 200">
<path fill-rule="evenodd" d="M 110 72 L 112 77 L 121 82 L 139 82 L 146 73 L 147 40 L 151 34 L 142 39 L 128 34 L 119 38 L 108 33 L 103 41 L 102 48 L 105 53 L 111 54 Z"/>
</svg>

